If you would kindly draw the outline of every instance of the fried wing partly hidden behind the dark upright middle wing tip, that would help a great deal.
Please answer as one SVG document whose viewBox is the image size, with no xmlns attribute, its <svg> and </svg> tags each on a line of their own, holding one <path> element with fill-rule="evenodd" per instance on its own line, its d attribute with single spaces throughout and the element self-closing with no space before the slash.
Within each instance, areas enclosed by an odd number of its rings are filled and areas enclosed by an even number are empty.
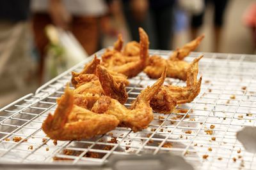
<svg viewBox="0 0 256 170">
<path fill-rule="evenodd" d="M 72 71 L 72 79 L 71 79 L 72 85 L 76 88 L 83 85 L 84 83 L 87 83 L 88 81 L 97 80 L 97 76 L 95 76 L 95 74 L 96 74 L 96 68 L 99 64 L 100 64 L 100 59 L 97 59 L 95 55 L 92 62 L 84 66 L 83 71 L 81 71 L 80 73 L 76 73 Z M 116 82 L 118 83 L 123 82 L 125 83 L 125 85 L 129 85 L 129 81 L 127 80 L 127 77 L 124 74 L 116 73 L 115 71 L 110 71 L 110 70 L 108 72 L 113 76 Z"/>
</svg>

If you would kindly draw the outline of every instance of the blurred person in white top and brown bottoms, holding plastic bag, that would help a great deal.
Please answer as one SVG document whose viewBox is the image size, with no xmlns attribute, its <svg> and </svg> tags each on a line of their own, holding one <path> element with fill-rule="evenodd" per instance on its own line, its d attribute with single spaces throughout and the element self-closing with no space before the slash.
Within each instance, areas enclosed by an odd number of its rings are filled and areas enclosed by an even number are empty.
<svg viewBox="0 0 256 170">
<path fill-rule="evenodd" d="M 108 25 L 108 4 L 104 0 L 33 0 L 33 32 L 40 53 L 40 80 L 42 82 L 45 46 L 45 26 L 54 24 L 61 29 L 72 31 L 79 43 L 92 55 L 99 50 L 100 31 Z"/>
</svg>

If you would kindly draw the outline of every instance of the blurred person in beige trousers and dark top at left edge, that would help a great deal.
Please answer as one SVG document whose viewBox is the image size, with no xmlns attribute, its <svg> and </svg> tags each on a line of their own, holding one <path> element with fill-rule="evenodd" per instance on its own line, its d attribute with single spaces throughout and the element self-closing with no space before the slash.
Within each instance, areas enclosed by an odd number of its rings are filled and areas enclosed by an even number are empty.
<svg viewBox="0 0 256 170">
<path fill-rule="evenodd" d="M 0 107 L 30 92 L 35 80 L 29 5 L 0 1 Z"/>
</svg>

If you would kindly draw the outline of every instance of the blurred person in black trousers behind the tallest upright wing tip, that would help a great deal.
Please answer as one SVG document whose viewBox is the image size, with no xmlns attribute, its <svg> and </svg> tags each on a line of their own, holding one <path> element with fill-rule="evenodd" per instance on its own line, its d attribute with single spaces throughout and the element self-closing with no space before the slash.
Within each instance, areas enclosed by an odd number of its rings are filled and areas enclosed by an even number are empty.
<svg viewBox="0 0 256 170">
<path fill-rule="evenodd" d="M 122 2 L 133 40 L 140 41 L 138 27 L 143 27 L 150 38 L 150 48 L 171 49 L 175 0 L 123 0 Z"/>
</svg>

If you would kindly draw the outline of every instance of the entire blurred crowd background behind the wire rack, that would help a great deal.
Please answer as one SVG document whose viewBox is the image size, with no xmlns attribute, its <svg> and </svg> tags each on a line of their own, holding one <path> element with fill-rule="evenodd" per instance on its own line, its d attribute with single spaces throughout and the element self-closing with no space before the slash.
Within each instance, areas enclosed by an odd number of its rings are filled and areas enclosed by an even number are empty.
<svg viewBox="0 0 256 170">
<path fill-rule="evenodd" d="M 255 0 L 0 1 L 0 108 L 35 90 L 118 33 L 175 50 L 200 34 L 200 52 L 256 52 Z"/>
</svg>

